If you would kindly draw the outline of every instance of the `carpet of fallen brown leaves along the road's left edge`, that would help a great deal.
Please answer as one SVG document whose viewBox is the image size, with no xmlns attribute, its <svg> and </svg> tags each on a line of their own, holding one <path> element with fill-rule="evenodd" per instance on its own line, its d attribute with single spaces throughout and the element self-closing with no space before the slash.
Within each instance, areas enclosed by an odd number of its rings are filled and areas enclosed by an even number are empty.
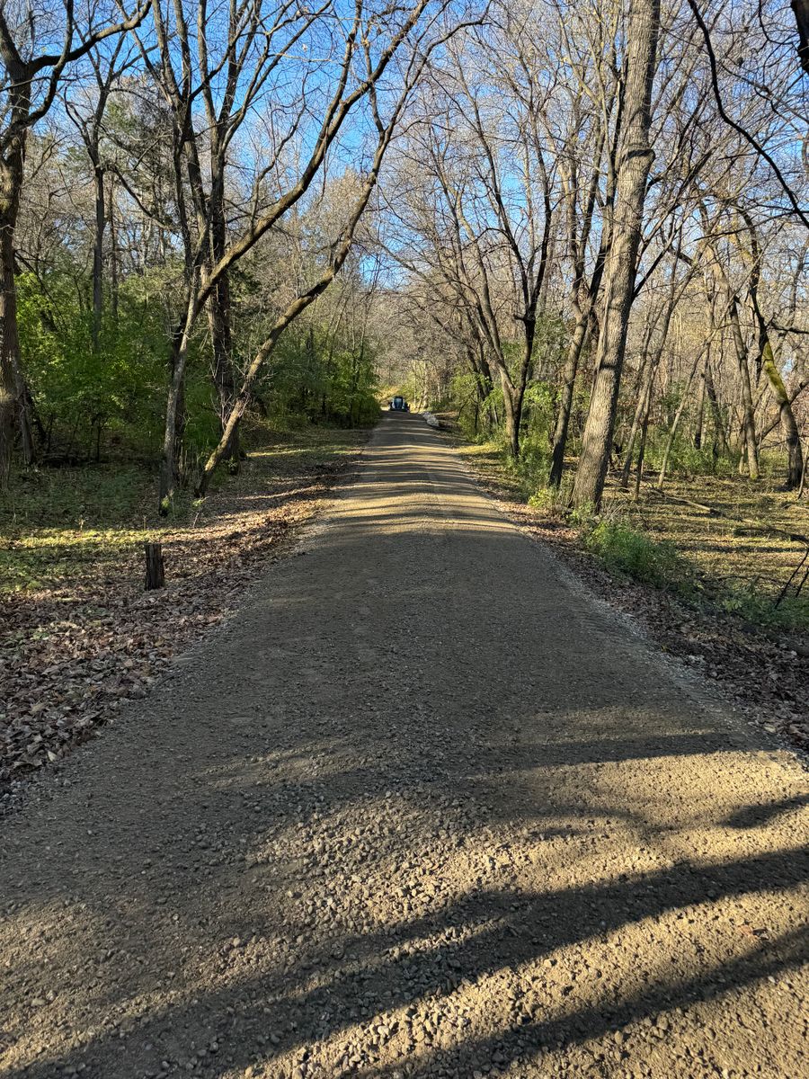
<svg viewBox="0 0 809 1079">
<path fill-rule="evenodd" d="M 354 439 L 356 445 L 357 439 Z M 225 618 L 316 511 L 354 457 L 272 455 L 159 538 L 166 587 L 143 590 L 141 544 L 0 602 L 0 791 L 24 784 L 145 697 L 168 665 Z M 275 467 L 274 467 L 275 465 Z"/>
</svg>

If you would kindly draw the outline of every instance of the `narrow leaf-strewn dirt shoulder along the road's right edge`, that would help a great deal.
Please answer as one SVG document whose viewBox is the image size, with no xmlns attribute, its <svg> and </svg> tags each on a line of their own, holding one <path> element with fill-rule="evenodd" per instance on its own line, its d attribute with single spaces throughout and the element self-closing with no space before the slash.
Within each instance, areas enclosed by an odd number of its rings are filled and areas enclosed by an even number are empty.
<svg viewBox="0 0 809 1079">
<path fill-rule="evenodd" d="M 809 752 L 809 638 L 759 631 L 739 617 L 697 609 L 670 592 L 609 572 L 584 547 L 579 529 L 526 505 L 491 454 L 476 452 L 454 433 L 442 432 L 442 437 L 504 513 L 549 544 L 600 598 L 637 619 L 663 652 L 709 679 L 748 719 Z"/>
</svg>

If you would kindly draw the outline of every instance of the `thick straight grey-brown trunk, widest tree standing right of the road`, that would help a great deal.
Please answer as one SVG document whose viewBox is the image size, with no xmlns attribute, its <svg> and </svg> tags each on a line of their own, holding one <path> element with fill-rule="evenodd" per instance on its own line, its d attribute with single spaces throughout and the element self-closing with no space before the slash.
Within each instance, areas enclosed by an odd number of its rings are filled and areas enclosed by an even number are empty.
<svg viewBox="0 0 809 1079">
<path fill-rule="evenodd" d="M 607 255 L 595 386 L 573 489 L 574 505 L 590 505 L 595 509 L 601 506 L 609 465 L 627 329 L 634 298 L 646 180 L 653 158 L 649 123 L 659 27 L 660 0 L 634 0 L 630 6 L 627 31 L 626 125 L 617 169 L 617 200 Z"/>
</svg>

